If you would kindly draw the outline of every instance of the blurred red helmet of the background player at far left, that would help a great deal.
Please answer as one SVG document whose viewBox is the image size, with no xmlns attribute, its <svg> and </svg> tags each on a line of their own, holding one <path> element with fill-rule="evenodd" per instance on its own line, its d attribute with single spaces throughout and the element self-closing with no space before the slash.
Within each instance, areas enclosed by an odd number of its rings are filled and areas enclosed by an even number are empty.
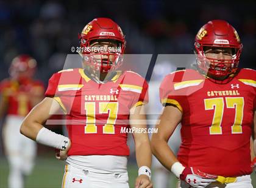
<svg viewBox="0 0 256 188">
<path fill-rule="evenodd" d="M 10 65 L 9 73 L 12 78 L 32 78 L 37 67 L 37 61 L 29 55 L 16 56 Z"/>
</svg>

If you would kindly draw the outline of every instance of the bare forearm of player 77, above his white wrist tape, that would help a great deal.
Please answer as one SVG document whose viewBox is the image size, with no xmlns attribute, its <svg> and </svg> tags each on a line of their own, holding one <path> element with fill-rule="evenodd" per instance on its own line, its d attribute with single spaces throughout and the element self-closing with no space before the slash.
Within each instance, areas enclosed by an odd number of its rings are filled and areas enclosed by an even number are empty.
<svg viewBox="0 0 256 188">
<path fill-rule="evenodd" d="M 178 159 L 169 148 L 165 140 L 152 138 L 151 149 L 153 155 L 166 167 L 166 169 L 171 170 L 172 164 L 178 162 Z"/>
</svg>

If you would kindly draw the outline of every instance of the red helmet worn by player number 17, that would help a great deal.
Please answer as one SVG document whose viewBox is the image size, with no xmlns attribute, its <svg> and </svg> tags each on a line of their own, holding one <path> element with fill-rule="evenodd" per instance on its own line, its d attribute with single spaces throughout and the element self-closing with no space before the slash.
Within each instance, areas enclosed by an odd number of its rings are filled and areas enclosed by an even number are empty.
<svg viewBox="0 0 256 188">
<path fill-rule="evenodd" d="M 96 18 L 85 25 L 79 35 L 80 54 L 86 64 L 101 72 L 115 70 L 121 65 L 121 55 L 126 47 L 124 34 L 112 19 Z M 116 44 L 116 49 L 97 49 L 91 47 L 94 42 L 110 42 Z M 112 51 L 112 52 L 111 52 Z M 96 55 L 100 58 L 95 58 Z M 110 58 L 110 56 L 112 58 Z"/>
</svg>

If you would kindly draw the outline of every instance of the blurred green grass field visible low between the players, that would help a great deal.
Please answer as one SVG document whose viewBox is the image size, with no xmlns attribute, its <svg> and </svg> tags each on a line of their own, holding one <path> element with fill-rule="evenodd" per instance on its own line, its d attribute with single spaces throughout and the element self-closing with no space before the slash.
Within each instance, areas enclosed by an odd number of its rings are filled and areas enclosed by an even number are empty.
<svg viewBox="0 0 256 188">
<path fill-rule="evenodd" d="M 64 172 L 64 165 L 62 161 L 57 161 L 54 157 L 50 158 L 48 156 L 38 157 L 36 161 L 35 168 L 32 174 L 27 178 L 25 187 L 27 188 L 59 188 L 62 184 L 62 177 Z M 7 175 L 9 169 L 7 160 L 5 158 L 0 158 L 0 188 L 7 187 Z M 135 164 L 128 165 L 129 172 L 129 184 L 130 187 L 134 187 L 135 178 L 137 177 L 137 166 Z M 154 173 L 154 172 L 152 172 Z M 252 176 L 252 182 L 254 187 L 256 187 L 256 174 Z M 175 187 L 175 178 L 170 177 L 169 181 L 171 188 Z M 167 187 L 154 187 L 154 188 L 167 188 Z"/>
</svg>

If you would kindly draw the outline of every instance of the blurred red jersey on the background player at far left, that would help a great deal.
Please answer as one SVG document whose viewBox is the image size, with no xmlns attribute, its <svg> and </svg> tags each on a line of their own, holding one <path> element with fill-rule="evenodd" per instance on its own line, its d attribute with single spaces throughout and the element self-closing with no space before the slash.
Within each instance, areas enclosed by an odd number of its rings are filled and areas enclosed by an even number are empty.
<svg viewBox="0 0 256 188">
<path fill-rule="evenodd" d="M 30 99 L 37 93 L 43 95 L 44 86 L 40 81 L 33 79 L 20 82 L 4 79 L 0 83 L 0 92 L 4 100 L 8 101 L 8 115 L 26 116 L 32 109 Z"/>
</svg>

